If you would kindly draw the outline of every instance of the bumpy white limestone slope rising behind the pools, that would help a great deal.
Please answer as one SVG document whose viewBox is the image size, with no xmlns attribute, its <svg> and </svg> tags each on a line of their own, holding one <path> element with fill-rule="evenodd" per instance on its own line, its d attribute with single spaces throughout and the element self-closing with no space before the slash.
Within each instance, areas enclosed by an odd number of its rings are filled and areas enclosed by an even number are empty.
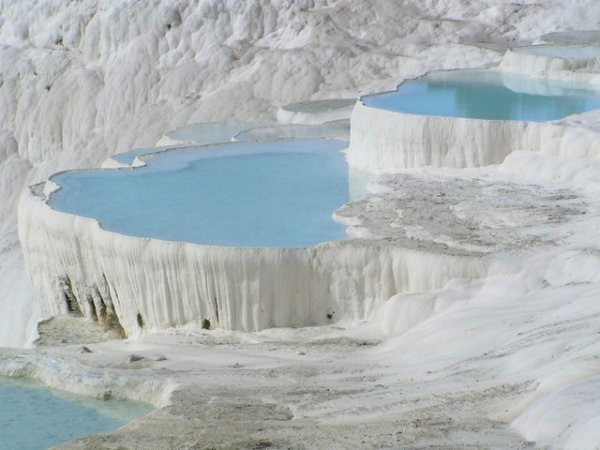
<svg viewBox="0 0 600 450">
<path fill-rule="evenodd" d="M 496 51 L 465 43 L 590 29 L 598 8 L 595 0 L 567 10 L 559 0 L 1 5 L 0 342 L 16 346 L 31 344 L 37 318 L 16 232 L 26 186 L 154 145 L 188 123 L 273 120 L 278 105 L 497 63 Z"/>
</svg>

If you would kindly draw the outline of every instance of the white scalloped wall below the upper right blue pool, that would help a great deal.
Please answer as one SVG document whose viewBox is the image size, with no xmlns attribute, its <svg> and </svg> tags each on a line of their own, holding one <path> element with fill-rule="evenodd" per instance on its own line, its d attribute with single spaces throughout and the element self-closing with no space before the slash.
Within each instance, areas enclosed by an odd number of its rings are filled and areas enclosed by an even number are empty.
<svg viewBox="0 0 600 450">
<path fill-rule="evenodd" d="M 540 151 L 566 133 L 549 122 L 483 120 L 408 114 L 357 102 L 352 112 L 348 164 L 393 172 L 416 167 L 481 167 L 514 150 Z"/>
</svg>

